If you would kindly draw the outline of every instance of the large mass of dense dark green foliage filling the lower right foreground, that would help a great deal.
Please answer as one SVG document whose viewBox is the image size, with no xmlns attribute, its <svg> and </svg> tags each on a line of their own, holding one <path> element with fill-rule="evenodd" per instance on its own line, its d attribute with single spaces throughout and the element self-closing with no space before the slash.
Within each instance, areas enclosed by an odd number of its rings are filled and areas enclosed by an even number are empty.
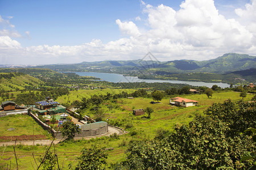
<svg viewBox="0 0 256 170">
<path fill-rule="evenodd" d="M 177 125 L 151 141 L 130 141 L 124 169 L 245 169 L 243 152 L 255 150 L 252 139 L 241 132 L 255 126 L 255 104 L 213 104 L 205 116 L 189 125 Z M 168 135 L 165 135 L 168 134 Z"/>
</svg>

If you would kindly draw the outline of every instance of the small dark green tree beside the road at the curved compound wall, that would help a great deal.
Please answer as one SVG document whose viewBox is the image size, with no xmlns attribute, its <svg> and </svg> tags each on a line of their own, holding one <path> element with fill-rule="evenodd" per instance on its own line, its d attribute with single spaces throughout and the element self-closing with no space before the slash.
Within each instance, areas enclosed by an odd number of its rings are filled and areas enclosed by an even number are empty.
<svg viewBox="0 0 256 170">
<path fill-rule="evenodd" d="M 61 134 L 67 139 L 73 139 L 76 133 L 80 133 L 80 128 L 74 122 L 67 121 L 63 123 L 62 128 L 60 128 Z"/>
</svg>

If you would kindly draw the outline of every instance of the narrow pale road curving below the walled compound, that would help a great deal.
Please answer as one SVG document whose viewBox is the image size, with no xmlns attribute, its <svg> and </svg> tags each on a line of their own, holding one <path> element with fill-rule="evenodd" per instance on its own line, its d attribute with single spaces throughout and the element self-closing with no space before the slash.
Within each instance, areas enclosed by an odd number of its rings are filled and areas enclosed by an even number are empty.
<svg viewBox="0 0 256 170">
<path fill-rule="evenodd" d="M 109 126 L 109 130 L 108 133 L 105 134 L 101 134 L 101 135 L 96 135 L 96 136 L 92 136 L 92 137 L 77 137 L 74 138 L 75 140 L 79 140 L 79 139 L 91 139 L 91 138 L 98 138 L 98 137 L 109 137 L 112 134 L 118 134 L 121 135 L 123 134 L 123 131 L 121 129 L 118 128 L 114 128 L 112 126 Z M 63 141 L 64 139 L 62 139 Z M 61 139 L 55 139 L 55 141 L 53 143 L 57 144 L 61 141 Z M 16 141 L 16 145 L 18 144 L 22 144 L 22 145 L 50 145 L 51 144 L 51 140 L 36 140 L 36 141 Z M 11 142 L 0 142 L 0 146 L 10 146 L 10 145 L 15 145 L 15 141 L 11 141 Z"/>
</svg>

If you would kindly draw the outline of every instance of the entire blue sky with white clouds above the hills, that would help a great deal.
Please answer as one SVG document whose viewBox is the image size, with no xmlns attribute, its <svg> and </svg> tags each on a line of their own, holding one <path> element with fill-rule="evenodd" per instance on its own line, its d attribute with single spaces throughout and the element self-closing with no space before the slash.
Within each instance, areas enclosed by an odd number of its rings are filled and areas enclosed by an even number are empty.
<svg viewBox="0 0 256 170">
<path fill-rule="evenodd" d="M 256 1 L 0 1 L 0 64 L 256 55 Z M 39 59 L 42 59 L 39 63 Z"/>
</svg>

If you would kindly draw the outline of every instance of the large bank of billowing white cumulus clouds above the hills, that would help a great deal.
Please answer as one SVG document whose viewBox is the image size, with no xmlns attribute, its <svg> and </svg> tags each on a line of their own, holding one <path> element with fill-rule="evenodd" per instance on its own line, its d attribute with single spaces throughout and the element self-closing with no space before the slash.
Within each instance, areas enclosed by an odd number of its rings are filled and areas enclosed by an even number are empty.
<svg viewBox="0 0 256 170">
<path fill-rule="evenodd" d="M 125 37 L 116 41 L 104 44 L 101 40 L 92 40 L 75 46 L 22 48 L 18 41 L 11 40 L 11 33 L 8 35 L 8 31 L 2 30 L 0 34 L 7 36 L 1 37 L 0 48 L 17 49 L 22 57 L 48 57 L 52 62 L 61 59 L 66 63 L 138 59 L 148 51 L 162 61 L 205 60 L 227 52 L 256 55 L 256 0 L 246 4 L 245 8 L 238 8 L 236 14 L 239 18 L 233 19 L 220 15 L 213 0 L 186 0 L 179 10 L 163 4 L 152 6 L 143 1 L 141 5 L 142 15 L 147 16 L 146 23 L 140 16 L 136 21 L 144 23 L 146 30 L 138 28 L 134 22 L 117 19 L 115 23 Z M 26 34 L 30 35 L 29 32 Z"/>
</svg>

